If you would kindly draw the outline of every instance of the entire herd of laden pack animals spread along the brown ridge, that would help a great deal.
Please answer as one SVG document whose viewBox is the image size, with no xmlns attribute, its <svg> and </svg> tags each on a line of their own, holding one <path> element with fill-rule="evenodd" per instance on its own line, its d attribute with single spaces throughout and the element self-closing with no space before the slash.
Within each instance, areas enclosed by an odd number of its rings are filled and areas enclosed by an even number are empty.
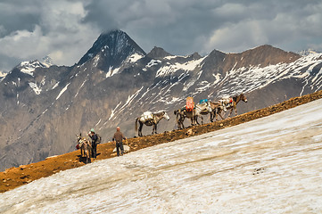
<svg viewBox="0 0 322 214">
<path fill-rule="evenodd" d="M 185 128 L 184 121 L 185 119 L 191 119 L 191 126 L 200 125 L 198 122 L 198 118 L 202 119 L 203 124 L 203 118 L 204 115 L 211 115 L 211 122 L 213 122 L 213 119 L 218 120 L 218 116 L 221 119 L 224 119 L 222 116 L 222 111 L 227 112 L 227 110 L 230 110 L 228 118 L 231 116 L 233 110 L 235 110 L 235 115 L 237 115 L 237 104 L 240 101 L 244 101 L 247 103 L 246 96 L 242 93 L 240 95 L 235 95 L 233 97 L 226 97 L 223 99 L 220 99 L 219 101 L 208 101 L 208 100 L 202 100 L 203 102 L 194 104 L 194 108 L 189 111 L 186 106 L 183 108 L 180 108 L 176 111 L 174 111 L 174 114 L 176 115 L 176 121 L 177 126 L 179 129 Z M 140 117 L 136 118 L 136 131 L 138 131 L 138 136 L 142 135 L 142 128 L 143 125 L 145 126 L 153 126 L 152 134 L 157 134 L 157 125 L 160 122 L 161 119 L 167 119 L 169 120 L 169 115 L 166 111 L 158 111 L 158 112 L 151 112 L 151 111 L 145 111 Z M 137 128 L 137 123 L 139 123 L 140 127 Z M 91 159 L 91 153 L 92 153 L 92 146 L 87 140 L 86 137 L 82 137 L 81 134 L 79 134 L 78 137 L 78 146 L 80 149 L 80 158 L 85 158 L 86 162 L 90 162 Z"/>
</svg>

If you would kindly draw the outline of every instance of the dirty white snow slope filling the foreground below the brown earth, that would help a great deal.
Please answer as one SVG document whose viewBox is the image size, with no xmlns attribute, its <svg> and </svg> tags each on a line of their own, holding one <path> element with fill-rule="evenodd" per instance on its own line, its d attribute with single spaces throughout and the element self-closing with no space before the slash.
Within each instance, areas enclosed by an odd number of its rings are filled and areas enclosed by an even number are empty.
<svg viewBox="0 0 322 214">
<path fill-rule="evenodd" d="M 61 171 L 1 193 L 0 212 L 321 213 L 321 106 Z"/>
</svg>

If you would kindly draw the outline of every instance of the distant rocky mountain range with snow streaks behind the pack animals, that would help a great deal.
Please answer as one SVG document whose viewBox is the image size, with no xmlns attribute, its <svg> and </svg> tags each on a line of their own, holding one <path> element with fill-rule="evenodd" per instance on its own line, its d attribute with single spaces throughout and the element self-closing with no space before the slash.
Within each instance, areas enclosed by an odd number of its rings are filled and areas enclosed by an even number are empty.
<svg viewBox="0 0 322 214">
<path fill-rule="evenodd" d="M 21 62 L 0 80 L 0 169 L 75 149 L 90 128 L 111 140 L 117 126 L 135 136 L 144 111 L 167 111 L 159 132 L 176 127 L 173 111 L 186 96 L 216 100 L 244 93 L 238 112 L 320 90 L 322 53 L 304 56 L 261 45 L 243 53 L 213 50 L 178 56 L 150 53 L 121 30 L 102 34 L 71 67 Z M 186 122 L 188 125 L 188 122 Z M 144 127 L 144 135 L 152 128 Z"/>
</svg>

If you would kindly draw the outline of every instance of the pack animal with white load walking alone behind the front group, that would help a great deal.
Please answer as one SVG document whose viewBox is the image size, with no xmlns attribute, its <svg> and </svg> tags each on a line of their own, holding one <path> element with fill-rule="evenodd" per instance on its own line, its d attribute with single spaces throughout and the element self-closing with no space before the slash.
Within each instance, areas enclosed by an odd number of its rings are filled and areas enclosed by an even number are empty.
<svg viewBox="0 0 322 214">
<path fill-rule="evenodd" d="M 137 135 L 143 136 L 142 128 L 144 124 L 148 127 L 153 126 L 152 135 L 157 134 L 157 125 L 160 122 L 160 120 L 163 118 L 167 120 L 170 119 L 166 111 L 158 111 L 155 113 L 152 113 L 151 111 L 145 111 L 140 117 L 136 118 L 136 131 L 137 131 L 137 122 L 139 122 L 140 124 Z"/>
</svg>

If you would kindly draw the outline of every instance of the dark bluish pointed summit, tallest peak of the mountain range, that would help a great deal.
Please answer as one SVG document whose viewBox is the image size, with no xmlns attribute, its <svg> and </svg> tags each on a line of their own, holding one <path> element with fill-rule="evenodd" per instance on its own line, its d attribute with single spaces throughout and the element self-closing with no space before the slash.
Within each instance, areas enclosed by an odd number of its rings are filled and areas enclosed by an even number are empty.
<svg viewBox="0 0 322 214">
<path fill-rule="evenodd" d="M 117 64 L 123 62 L 133 53 L 145 55 L 144 50 L 136 44 L 128 34 L 120 29 L 103 33 L 97 38 L 94 45 L 80 59 L 79 64 L 83 64 L 99 55 L 100 60 L 105 60 L 103 64 Z"/>
</svg>

